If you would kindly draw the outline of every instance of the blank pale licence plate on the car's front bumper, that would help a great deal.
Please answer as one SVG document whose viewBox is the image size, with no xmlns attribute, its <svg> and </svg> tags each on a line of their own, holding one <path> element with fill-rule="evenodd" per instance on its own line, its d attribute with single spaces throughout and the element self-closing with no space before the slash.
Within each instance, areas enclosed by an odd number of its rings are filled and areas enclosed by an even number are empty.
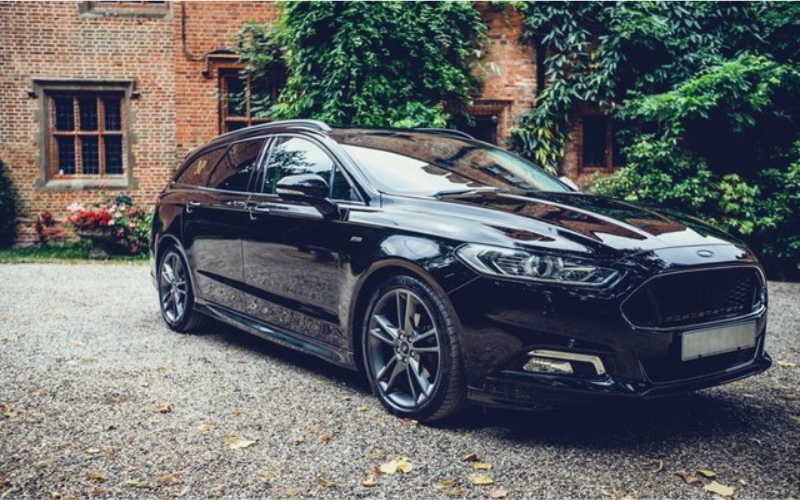
<svg viewBox="0 0 800 500">
<path fill-rule="evenodd" d="M 681 336 L 681 361 L 734 352 L 755 345 L 755 322 L 695 330 Z"/>
</svg>

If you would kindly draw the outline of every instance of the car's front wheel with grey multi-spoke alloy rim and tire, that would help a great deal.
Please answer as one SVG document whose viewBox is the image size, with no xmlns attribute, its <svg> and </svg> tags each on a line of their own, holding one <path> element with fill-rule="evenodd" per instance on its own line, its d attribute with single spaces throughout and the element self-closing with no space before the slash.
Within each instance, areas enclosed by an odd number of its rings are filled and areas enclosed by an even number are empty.
<svg viewBox="0 0 800 500">
<path fill-rule="evenodd" d="M 461 347 L 445 301 L 411 276 L 390 278 L 369 300 L 364 368 L 378 399 L 398 417 L 430 423 L 464 406 Z"/>
</svg>

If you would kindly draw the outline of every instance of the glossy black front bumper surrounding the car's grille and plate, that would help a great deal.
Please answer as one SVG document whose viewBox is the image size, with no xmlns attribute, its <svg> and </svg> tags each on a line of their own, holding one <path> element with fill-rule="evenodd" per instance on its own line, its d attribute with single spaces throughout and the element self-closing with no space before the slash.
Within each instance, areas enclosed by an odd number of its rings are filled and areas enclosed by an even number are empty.
<svg viewBox="0 0 800 500">
<path fill-rule="evenodd" d="M 754 268 L 757 263 L 743 265 Z M 451 294 L 461 322 L 469 399 L 511 408 L 650 399 L 729 383 L 771 366 L 772 360 L 764 350 L 766 295 L 757 309 L 721 322 L 723 326 L 754 323 L 755 346 L 735 352 L 682 361 L 682 335 L 702 325 L 633 326 L 622 314 L 621 305 L 655 274 L 659 273 L 631 273 L 606 290 L 482 277 Z M 534 350 L 598 358 L 604 373 L 525 371 L 525 360 Z"/>
</svg>

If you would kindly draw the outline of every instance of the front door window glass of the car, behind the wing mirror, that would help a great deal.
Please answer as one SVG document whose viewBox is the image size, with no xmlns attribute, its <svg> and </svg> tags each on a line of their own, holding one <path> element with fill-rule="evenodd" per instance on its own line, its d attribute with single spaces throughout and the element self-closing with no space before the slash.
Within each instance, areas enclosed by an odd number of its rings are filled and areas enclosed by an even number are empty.
<svg viewBox="0 0 800 500">
<path fill-rule="evenodd" d="M 263 191 L 274 194 L 278 181 L 289 175 L 317 174 L 330 182 L 332 171 L 333 160 L 322 148 L 299 137 L 283 137 L 269 155 Z"/>
</svg>

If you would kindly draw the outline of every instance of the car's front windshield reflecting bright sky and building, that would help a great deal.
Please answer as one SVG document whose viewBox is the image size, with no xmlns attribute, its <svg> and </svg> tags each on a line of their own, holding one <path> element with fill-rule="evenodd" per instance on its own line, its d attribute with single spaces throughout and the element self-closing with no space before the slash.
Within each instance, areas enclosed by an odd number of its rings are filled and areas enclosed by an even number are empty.
<svg viewBox="0 0 800 500">
<path fill-rule="evenodd" d="M 514 154 L 459 138 L 413 131 L 343 130 L 334 139 L 383 192 L 432 195 L 487 187 L 570 191 Z"/>
</svg>

